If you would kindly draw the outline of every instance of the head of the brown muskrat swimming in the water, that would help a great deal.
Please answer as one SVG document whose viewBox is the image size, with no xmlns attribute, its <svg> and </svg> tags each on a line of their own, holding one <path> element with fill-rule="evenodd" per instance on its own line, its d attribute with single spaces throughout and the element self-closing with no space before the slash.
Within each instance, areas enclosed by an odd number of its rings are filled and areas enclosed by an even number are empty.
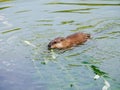
<svg viewBox="0 0 120 90">
<path fill-rule="evenodd" d="M 49 44 L 48 44 L 48 49 L 55 49 L 55 48 L 62 48 L 62 41 L 64 41 L 65 38 L 64 37 L 57 37 L 54 40 L 52 40 Z"/>
</svg>

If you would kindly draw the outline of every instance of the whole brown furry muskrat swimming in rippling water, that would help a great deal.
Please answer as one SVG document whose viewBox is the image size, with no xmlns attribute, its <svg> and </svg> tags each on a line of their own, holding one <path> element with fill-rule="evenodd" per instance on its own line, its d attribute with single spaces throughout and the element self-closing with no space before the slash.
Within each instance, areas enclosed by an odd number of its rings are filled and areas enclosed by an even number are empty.
<svg viewBox="0 0 120 90">
<path fill-rule="evenodd" d="M 48 44 L 48 49 L 66 49 L 85 43 L 90 34 L 75 33 L 67 37 L 57 37 Z"/>
</svg>

